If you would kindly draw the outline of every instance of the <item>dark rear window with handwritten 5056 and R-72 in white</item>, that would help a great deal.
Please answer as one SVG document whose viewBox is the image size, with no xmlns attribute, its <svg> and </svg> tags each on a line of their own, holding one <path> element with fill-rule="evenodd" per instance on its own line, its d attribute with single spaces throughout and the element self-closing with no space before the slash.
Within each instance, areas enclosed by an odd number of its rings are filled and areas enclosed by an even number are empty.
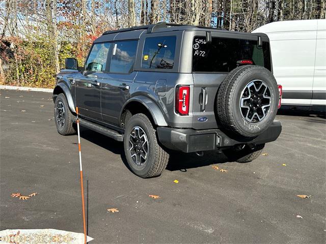
<svg viewBox="0 0 326 244">
<path fill-rule="evenodd" d="M 241 60 L 251 60 L 254 65 L 271 70 L 269 43 L 263 42 L 259 47 L 253 40 L 215 37 L 207 43 L 205 37 L 194 37 L 194 72 L 230 72 Z"/>
</svg>

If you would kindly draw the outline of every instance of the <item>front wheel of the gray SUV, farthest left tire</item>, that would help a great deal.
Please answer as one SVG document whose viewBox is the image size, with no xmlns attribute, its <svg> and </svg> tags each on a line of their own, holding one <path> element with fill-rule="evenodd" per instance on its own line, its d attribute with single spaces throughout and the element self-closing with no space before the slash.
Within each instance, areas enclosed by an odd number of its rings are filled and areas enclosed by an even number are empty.
<svg viewBox="0 0 326 244">
<path fill-rule="evenodd" d="M 73 127 L 73 115 L 69 110 L 64 94 L 59 94 L 55 102 L 55 123 L 59 134 L 71 135 L 76 131 Z"/>
</svg>

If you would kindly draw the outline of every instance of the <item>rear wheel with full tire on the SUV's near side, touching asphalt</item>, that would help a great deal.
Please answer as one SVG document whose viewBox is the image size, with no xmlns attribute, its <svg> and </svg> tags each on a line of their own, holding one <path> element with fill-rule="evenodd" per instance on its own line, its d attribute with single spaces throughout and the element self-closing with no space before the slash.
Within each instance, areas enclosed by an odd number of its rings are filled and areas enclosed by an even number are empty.
<svg viewBox="0 0 326 244">
<path fill-rule="evenodd" d="M 150 178 L 160 175 L 167 167 L 169 154 L 158 144 L 156 130 L 145 114 L 135 114 L 128 120 L 123 144 L 134 174 Z"/>
</svg>

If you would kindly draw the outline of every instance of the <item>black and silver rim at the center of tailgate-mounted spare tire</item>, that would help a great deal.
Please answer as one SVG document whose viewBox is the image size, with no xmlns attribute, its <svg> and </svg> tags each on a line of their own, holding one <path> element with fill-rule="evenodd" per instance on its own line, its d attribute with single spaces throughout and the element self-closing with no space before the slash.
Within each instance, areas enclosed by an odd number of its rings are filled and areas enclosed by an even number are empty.
<svg viewBox="0 0 326 244">
<path fill-rule="evenodd" d="M 253 80 L 244 87 L 240 99 L 242 117 L 250 123 L 263 120 L 270 108 L 270 90 L 262 80 Z"/>
</svg>

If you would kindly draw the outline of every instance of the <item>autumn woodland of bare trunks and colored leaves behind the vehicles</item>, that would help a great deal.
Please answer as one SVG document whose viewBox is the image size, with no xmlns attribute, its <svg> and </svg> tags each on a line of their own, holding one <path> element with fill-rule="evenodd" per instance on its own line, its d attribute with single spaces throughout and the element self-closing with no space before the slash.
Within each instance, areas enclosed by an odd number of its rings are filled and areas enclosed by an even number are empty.
<svg viewBox="0 0 326 244">
<path fill-rule="evenodd" d="M 104 31 L 165 21 L 251 32 L 273 21 L 325 18 L 317 0 L 6 0 L 0 8 L 0 84 L 53 87 L 66 57 L 83 66 Z"/>
</svg>

